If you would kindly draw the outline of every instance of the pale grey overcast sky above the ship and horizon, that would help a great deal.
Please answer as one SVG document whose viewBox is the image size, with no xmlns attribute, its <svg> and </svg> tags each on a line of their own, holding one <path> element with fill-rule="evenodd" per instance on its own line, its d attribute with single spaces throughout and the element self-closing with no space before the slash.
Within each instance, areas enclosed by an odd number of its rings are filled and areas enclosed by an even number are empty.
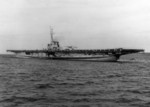
<svg viewBox="0 0 150 107">
<path fill-rule="evenodd" d="M 0 0 L 0 53 L 46 48 L 49 26 L 62 46 L 150 52 L 149 0 Z"/>
</svg>

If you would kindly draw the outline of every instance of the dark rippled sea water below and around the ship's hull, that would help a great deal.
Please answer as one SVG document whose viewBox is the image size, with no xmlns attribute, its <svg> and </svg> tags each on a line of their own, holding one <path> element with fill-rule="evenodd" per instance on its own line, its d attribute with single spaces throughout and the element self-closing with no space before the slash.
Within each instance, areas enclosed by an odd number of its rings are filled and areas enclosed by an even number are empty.
<svg viewBox="0 0 150 107">
<path fill-rule="evenodd" d="M 150 107 L 150 54 L 109 63 L 1 55 L 0 107 Z"/>
</svg>

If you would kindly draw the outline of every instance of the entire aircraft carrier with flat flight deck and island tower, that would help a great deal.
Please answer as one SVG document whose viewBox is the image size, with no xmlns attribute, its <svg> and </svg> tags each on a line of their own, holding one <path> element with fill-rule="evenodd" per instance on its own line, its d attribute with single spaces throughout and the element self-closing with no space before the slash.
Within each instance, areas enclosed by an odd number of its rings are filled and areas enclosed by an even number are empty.
<svg viewBox="0 0 150 107">
<path fill-rule="evenodd" d="M 46 58 L 52 60 L 84 60 L 84 61 L 117 61 L 120 56 L 138 52 L 144 52 L 143 49 L 75 49 L 72 46 L 63 49 L 59 41 L 53 39 L 53 29 L 50 32 L 51 42 L 47 49 L 42 50 L 7 50 L 18 54 L 24 54 L 27 57 Z"/>
</svg>

